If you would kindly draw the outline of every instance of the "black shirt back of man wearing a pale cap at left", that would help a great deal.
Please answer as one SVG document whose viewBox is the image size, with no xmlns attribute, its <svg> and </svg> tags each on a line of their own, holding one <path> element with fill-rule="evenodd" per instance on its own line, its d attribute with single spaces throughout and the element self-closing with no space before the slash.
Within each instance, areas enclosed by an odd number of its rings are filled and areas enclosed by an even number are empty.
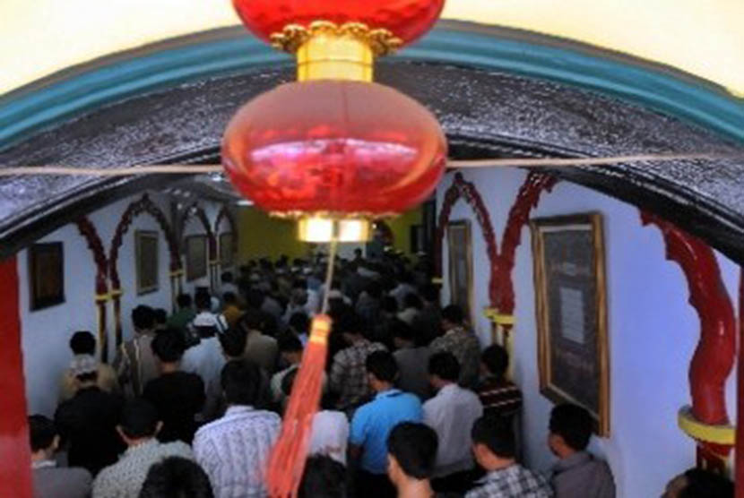
<svg viewBox="0 0 744 498">
<path fill-rule="evenodd" d="M 82 389 L 56 409 L 60 435 L 70 441 L 70 466 L 87 468 L 95 475 L 117 461 L 124 447 L 116 426 L 122 401 L 98 387 Z"/>
</svg>

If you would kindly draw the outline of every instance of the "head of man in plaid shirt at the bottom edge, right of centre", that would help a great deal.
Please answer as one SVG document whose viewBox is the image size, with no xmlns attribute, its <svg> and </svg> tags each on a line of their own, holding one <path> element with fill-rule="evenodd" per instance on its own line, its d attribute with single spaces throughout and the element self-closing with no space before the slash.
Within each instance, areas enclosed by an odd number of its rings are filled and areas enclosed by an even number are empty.
<svg viewBox="0 0 744 498">
<path fill-rule="evenodd" d="M 515 434 L 511 422 L 500 416 L 481 416 L 472 425 L 472 452 L 480 467 L 488 471 L 513 464 Z"/>
</svg>

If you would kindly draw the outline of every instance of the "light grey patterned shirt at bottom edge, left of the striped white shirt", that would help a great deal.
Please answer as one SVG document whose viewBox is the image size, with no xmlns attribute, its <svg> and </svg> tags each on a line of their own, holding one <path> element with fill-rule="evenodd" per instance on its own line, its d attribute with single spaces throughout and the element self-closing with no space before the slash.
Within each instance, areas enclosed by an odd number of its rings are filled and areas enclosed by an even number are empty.
<svg viewBox="0 0 744 498">
<path fill-rule="evenodd" d="M 184 442 L 158 442 L 155 439 L 132 446 L 114 465 L 100 471 L 93 482 L 93 498 L 137 498 L 147 471 L 168 457 L 194 459 Z"/>
</svg>

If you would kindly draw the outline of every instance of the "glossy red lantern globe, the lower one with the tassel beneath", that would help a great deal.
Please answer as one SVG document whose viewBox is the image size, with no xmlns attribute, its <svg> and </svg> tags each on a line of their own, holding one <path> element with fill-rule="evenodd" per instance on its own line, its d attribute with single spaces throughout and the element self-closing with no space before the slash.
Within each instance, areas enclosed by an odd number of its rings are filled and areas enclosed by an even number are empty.
<svg viewBox="0 0 744 498">
<path fill-rule="evenodd" d="M 287 83 L 232 118 L 222 161 L 264 210 L 372 219 L 426 200 L 444 172 L 446 139 L 426 107 L 384 85 Z"/>
</svg>

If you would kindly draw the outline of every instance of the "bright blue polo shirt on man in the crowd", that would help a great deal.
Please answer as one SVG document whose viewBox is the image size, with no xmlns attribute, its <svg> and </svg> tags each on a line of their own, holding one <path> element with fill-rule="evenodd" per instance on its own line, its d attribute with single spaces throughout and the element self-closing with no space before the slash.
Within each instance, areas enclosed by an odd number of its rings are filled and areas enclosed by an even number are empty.
<svg viewBox="0 0 744 498">
<path fill-rule="evenodd" d="M 401 422 L 421 422 L 419 398 L 399 389 L 378 392 L 351 420 L 350 444 L 362 447 L 361 468 L 372 474 L 387 472 L 387 436 Z"/>
</svg>

